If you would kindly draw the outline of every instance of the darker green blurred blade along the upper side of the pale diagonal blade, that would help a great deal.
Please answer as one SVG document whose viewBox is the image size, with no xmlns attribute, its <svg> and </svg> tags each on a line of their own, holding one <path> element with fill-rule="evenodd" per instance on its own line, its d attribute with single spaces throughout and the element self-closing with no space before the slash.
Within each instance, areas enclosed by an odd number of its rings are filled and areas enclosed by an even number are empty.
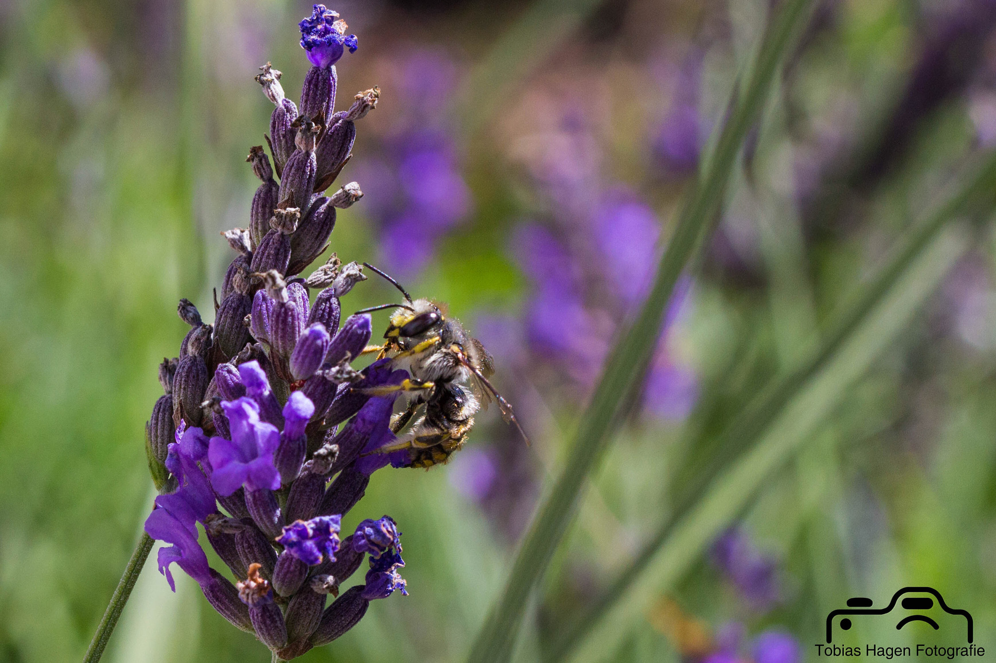
<svg viewBox="0 0 996 663">
<path fill-rule="evenodd" d="M 794 369 L 763 389 L 759 396 L 734 418 L 716 448 L 727 450 L 736 445 L 738 448 L 747 449 L 758 443 L 761 434 L 773 422 L 785 417 L 786 408 L 791 407 L 791 403 L 794 402 L 793 397 L 802 389 L 808 388 L 807 384 L 814 376 L 832 360 L 837 360 L 836 357 L 840 352 L 853 345 L 854 337 L 863 326 L 869 324 L 870 319 L 880 317 L 882 309 L 887 307 L 886 298 L 889 297 L 889 293 L 897 288 L 900 278 L 911 269 L 910 265 L 922 260 L 922 255 L 936 243 L 937 235 L 944 225 L 952 218 L 969 211 L 973 205 L 991 204 L 992 192 L 996 190 L 996 153 L 989 154 L 963 181 L 967 183 L 912 230 L 905 241 L 892 252 L 874 281 L 864 288 L 849 306 L 844 307 L 844 311 L 829 326 L 823 336 L 824 340 L 805 353 Z M 665 519 L 606 594 L 551 644 L 548 649 L 548 660 L 565 659 L 593 632 L 608 613 L 617 610 L 617 604 L 632 590 L 637 578 L 641 579 L 641 583 L 645 583 L 644 571 L 660 556 L 660 551 L 665 546 L 670 546 L 669 542 L 675 536 L 679 524 L 686 522 L 687 518 L 690 518 L 689 514 L 700 508 L 706 491 L 712 490 L 717 484 L 711 480 L 719 475 L 724 467 L 729 467 L 734 462 L 738 462 L 735 453 L 725 465 L 717 464 L 711 468 L 711 471 L 704 473 L 697 490 L 690 491 L 678 504 L 674 513 Z"/>
</svg>

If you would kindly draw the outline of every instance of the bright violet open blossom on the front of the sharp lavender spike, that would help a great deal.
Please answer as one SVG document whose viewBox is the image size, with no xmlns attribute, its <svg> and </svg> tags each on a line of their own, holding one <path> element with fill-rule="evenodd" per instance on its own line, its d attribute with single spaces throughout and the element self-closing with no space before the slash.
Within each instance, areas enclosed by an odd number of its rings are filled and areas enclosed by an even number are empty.
<svg viewBox="0 0 996 663">
<path fill-rule="evenodd" d="M 280 474 L 273 455 L 280 445 L 280 431 L 260 421 L 259 405 L 251 398 L 223 401 L 221 407 L 228 416 L 232 439 L 211 438 L 207 455 L 214 490 L 226 496 L 242 486 L 248 491 L 278 490 Z"/>
</svg>

